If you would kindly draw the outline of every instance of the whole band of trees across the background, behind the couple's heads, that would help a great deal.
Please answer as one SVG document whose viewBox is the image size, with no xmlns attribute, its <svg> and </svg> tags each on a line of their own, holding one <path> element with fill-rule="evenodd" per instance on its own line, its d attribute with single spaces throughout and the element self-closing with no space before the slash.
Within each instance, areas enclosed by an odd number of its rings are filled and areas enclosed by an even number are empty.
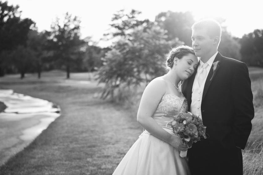
<svg viewBox="0 0 263 175">
<path fill-rule="evenodd" d="M 116 82 L 141 73 L 145 73 L 147 80 L 148 75 L 164 72 L 163 61 L 171 47 L 192 44 L 191 26 L 195 22 L 190 12 L 162 12 L 156 15 L 155 21 L 150 21 L 140 20 L 139 11 L 120 10 L 112 17 L 111 30 L 102 38 L 112 41 L 112 45 L 101 48 L 90 37 L 80 39 L 81 21 L 77 16 L 66 13 L 63 19 L 57 18 L 51 24 L 49 31 L 37 32 L 36 23 L 22 19 L 21 13 L 19 6 L 0 1 L 0 76 L 20 73 L 24 78 L 27 72 L 38 72 L 40 78 L 43 70 L 63 69 L 69 78 L 71 71 L 104 67 L 100 69 L 101 82 L 117 74 L 122 76 L 113 78 Z M 224 22 L 224 19 L 216 20 Z M 223 28 L 219 52 L 262 67 L 262 34 L 262 30 L 255 30 L 242 38 L 233 38 Z M 131 71 L 131 77 L 122 67 Z M 130 81 L 132 84 L 134 78 Z"/>
</svg>

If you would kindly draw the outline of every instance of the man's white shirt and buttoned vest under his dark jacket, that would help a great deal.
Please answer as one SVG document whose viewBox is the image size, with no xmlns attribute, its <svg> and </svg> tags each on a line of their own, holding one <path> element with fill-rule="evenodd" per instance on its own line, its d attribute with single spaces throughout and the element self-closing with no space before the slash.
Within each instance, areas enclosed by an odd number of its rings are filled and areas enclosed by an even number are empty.
<svg viewBox="0 0 263 175">
<path fill-rule="evenodd" d="M 197 81 L 197 76 L 200 74 L 200 70 L 202 65 L 204 64 L 204 62 L 202 62 L 202 60 L 200 59 L 200 64 L 197 68 L 197 72 L 196 72 L 196 76 L 194 79 L 194 83 L 193 83 L 193 88 L 192 88 L 192 103 L 190 106 L 190 112 L 193 114 L 196 114 L 197 117 L 200 117 L 202 119 L 202 113 L 201 113 L 201 102 L 202 102 L 202 96 L 203 96 L 203 91 L 204 91 L 204 87 L 205 87 L 205 81 L 207 79 L 208 73 L 213 65 L 213 62 L 216 58 L 218 52 L 216 52 L 211 58 L 209 58 L 209 60 L 207 61 L 208 66 L 206 67 L 206 77 L 204 79 L 204 81 L 202 82 L 202 84 L 198 84 Z"/>
</svg>

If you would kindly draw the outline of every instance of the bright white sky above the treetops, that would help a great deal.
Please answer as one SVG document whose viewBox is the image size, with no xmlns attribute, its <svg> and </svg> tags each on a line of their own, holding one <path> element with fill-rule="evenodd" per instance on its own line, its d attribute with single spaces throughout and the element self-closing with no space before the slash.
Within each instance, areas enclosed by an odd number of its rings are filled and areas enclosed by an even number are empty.
<svg viewBox="0 0 263 175">
<path fill-rule="evenodd" d="M 191 11 L 196 20 L 204 17 L 223 17 L 226 19 L 227 30 L 233 36 L 242 37 L 263 29 L 262 0 L 231 1 L 231 0 L 8 0 L 9 4 L 19 5 L 22 18 L 31 18 L 37 23 L 39 31 L 50 30 L 50 24 L 56 17 L 63 17 L 67 11 L 81 19 L 81 38 L 92 36 L 99 41 L 109 28 L 116 11 L 131 9 L 142 12 L 141 18 L 154 21 L 160 12 Z M 190 37 L 190 36 L 189 36 Z M 103 46 L 105 43 L 100 43 Z"/>
</svg>

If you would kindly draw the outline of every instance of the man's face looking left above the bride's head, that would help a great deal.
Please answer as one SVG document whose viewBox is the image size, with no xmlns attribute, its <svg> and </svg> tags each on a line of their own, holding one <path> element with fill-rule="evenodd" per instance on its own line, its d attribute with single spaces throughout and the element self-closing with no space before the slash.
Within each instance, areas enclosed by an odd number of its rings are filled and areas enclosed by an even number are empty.
<svg viewBox="0 0 263 175">
<path fill-rule="evenodd" d="M 192 47 L 197 57 L 206 57 L 214 52 L 213 38 L 210 38 L 206 29 L 193 29 Z"/>
</svg>

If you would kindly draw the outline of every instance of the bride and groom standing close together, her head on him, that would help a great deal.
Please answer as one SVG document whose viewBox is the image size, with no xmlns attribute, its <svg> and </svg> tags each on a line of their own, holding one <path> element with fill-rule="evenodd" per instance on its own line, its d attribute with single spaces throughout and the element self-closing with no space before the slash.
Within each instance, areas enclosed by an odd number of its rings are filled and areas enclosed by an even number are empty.
<svg viewBox="0 0 263 175">
<path fill-rule="evenodd" d="M 241 149 L 254 117 L 251 81 L 245 63 L 217 51 L 220 39 L 220 24 L 201 20 L 192 26 L 192 47 L 170 51 L 169 72 L 153 79 L 140 101 L 137 121 L 144 131 L 114 175 L 243 174 Z M 190 149 L 166 126 L 187 111 L 203 120 L 209 134 Z M 187 157 L 180 157 L 186 150 Z"/>
</svg>

